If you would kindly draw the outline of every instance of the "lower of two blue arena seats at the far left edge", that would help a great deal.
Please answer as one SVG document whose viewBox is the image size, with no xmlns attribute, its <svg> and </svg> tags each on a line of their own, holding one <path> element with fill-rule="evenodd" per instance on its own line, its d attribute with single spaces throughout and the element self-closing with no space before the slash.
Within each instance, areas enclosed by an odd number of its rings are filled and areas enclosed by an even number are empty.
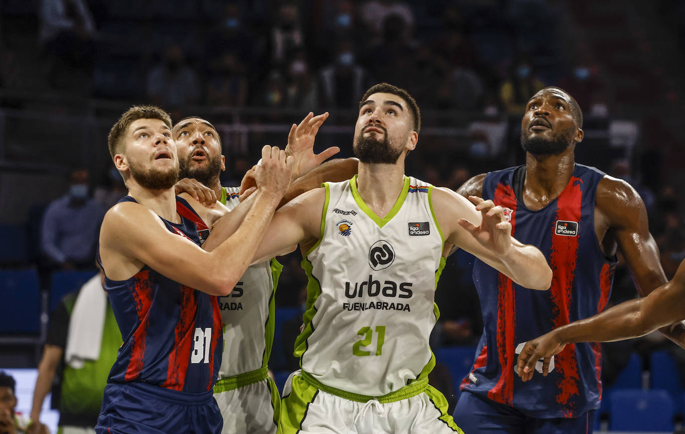
<svg viewBox="0 0 685 434">
<path fill-rule="evenodd" d="M 3 314 L 0 333 L 38 333 L 40 329 L 40 283 L 33 268 L 0 270 Z"/>
</svg>

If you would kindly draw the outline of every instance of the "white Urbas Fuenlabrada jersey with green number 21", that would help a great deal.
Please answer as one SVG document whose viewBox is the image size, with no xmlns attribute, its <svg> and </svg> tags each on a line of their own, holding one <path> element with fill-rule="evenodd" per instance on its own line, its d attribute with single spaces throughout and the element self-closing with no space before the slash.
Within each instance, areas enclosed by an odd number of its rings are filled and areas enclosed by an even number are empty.
<svg viewBox="0 0 685 434">
<path fill-rule="evenodd" d="M 439 316 L 443 235 L 428 183 L 405 177 L 381 219 L 362 201 L 356 180 L 324 184 L 321 239 L 302 261 L 306 328 L 295 355 L 325 385 L 382 396 L 435 365 L 428 338 Z"/>
</svg>

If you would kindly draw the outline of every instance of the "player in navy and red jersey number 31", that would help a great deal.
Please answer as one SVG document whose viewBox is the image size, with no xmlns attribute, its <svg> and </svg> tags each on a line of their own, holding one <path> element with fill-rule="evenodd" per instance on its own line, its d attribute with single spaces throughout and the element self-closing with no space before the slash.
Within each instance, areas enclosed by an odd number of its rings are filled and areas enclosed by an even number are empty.
<svg viewBox="0 0 685 434">
<path fill-rule="evenodd" d="M 220 433 L 212 397 L 223 341 L 216 296 L 228 295 L 247 269 L 292 162 L 264 146 L 260 191 L 230 213 L 243 213 L 233 216 L 242 220 L 239 229 L 203 250 L 222 209 L 174 195 L 178 159 L 169 115 L 132 107 L 112 127 L 108 145 L 129 194 L 105 215 L 98 259 L 124 343 L 95 430 Z"/>
</svg>

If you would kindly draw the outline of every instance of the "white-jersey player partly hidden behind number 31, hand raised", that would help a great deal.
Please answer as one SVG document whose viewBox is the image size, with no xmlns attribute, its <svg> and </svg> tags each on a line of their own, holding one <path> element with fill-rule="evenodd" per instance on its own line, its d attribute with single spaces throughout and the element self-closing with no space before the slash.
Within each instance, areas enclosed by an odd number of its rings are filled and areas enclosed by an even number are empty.
<svg viewBox="0 0 685 434">
<path fill-rule="evenodd" d="M 342 180 L 356 173 L 357 162 L 352 158 L 332 160 L 310 171 L 339 151 L 333 147 L 319 155 L 312 152 L 316 133 L 327 115 L 310 113 L 299 125 L 293 125 L 286 146 L 286 152 L 292 149 L 294 172 L 297 170 L 293 177 L 306 175 L 303 172 L 311 175 L 300 178 L 284 199 L 321 186 L 319 177 Z M 173 139 L 179 155 L 179 176 L 208 186 L 223 205 L 234 209 L 240 187 L 222 187 L 219 182 L 225 157 L 221 155 L 216 128 L 203 118 L 190 116 L 173 127 Z M 281 401 L 273 379 L 267 375 L 267 364 L 273 342 L 275 288 L 281 270 L 275 259 L 249 266 L 232 293 L 219 298 L 224 344 L 214 398 L 223 416 L 224 434 L 271 434 L 277 430 Z"/>
</svg>

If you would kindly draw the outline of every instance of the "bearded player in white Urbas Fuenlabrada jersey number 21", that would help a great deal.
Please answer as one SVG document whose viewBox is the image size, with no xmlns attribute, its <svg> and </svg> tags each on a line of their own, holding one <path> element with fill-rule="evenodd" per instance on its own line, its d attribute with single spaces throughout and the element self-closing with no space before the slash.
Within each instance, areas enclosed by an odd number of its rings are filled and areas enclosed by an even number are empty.
<svg viewBox="0 0 685 434">
<path fill-rule="evenodd" d="M 355 127 L 359 175 L 293 199 L 264 236 L 257 260 L 299 244 L 309 276 L 295 344 L 301 370 L 282 403 L 286 434 L 462 432 L 427 383 L 446 243 L 521 285 L 549 288 L 542 253 L 511 238 L 501 207 L 404 175 L 420 129 L 419 107 L 405 90 L 373 86 Z"/>
</svg>

